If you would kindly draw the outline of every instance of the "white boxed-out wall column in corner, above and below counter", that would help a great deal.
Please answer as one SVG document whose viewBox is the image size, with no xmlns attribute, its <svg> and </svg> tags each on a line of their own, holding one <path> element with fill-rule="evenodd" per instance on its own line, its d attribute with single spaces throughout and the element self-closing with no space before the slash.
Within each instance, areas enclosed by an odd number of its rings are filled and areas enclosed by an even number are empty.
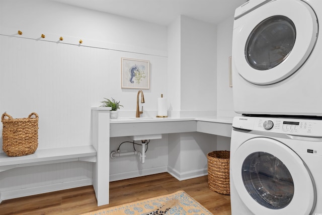
<svg viewBox="0 0 322 215">
<path fill-rule="evenodd" d="M 179 16 L 168 27 L 169 92 L 180 116 L 216 113 L 216 26 Z M 174 81 L 175 80 L 175 81 Z M 173 103 L 174 104 L 174 103 Z M 216 136 L 169 134 L 168 171 L 180 180 L 207 174 Z"/>
</svg>

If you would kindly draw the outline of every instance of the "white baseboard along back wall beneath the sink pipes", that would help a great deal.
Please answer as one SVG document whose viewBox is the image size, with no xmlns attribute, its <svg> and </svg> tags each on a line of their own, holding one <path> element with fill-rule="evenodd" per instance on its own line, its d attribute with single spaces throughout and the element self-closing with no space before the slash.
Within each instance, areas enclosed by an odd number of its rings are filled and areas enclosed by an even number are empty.
<svg viewBox="0 0 322 215">
<path fill-rule="evenodd" d="M 164 166 L 164 167 L 156 167 L 156 168 L 150 168 L 150 169 L 144 169 L 144 170 L 135 170 L 135 171 L 125 172 L 125 173 L 110 174 L 110 181 L 118 181 L 118 180 L 135 178 L 135 177 L 140 177 L 145 175 L 163 173 L 163 172 L 167 172 L 167 168 L 168 168 L 167 166 Z"/>
</svg>

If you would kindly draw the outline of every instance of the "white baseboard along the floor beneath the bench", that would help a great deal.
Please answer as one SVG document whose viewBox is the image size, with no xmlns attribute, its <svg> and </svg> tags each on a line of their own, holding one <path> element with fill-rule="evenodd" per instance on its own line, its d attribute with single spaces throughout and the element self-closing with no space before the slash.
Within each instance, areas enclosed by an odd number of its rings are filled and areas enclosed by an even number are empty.
<svg viewBox="0 0 322 215">
<path fill-rule="evenodd" d="M 45 186 L 8 190 L 8 191 L 0 192 L 0 199 L 6 200 L 6 199 L 12 199 L 12 198 L 20 198 L 20 197 L 24 197 L 24 196 L 42 194 L 42 193 L 47 193 L 47 192 L 54 192 L 54 191 L 58 191 L 58 190 L 65 190 L 65 189 L 70 189 L 70 188 L 75 188 L 75 187 L 83 187 L 83 186 L 88 186 L 88 185 L 92 185 L 92 184 L 93 184 L 92 179 L 88 178 L 88 179 L 83 179 L 83 180 L 78 180 L 78 181 L 68 181 L 68 182 L 50 184 L 50 185 L 45 185 Z"/>
</svg>

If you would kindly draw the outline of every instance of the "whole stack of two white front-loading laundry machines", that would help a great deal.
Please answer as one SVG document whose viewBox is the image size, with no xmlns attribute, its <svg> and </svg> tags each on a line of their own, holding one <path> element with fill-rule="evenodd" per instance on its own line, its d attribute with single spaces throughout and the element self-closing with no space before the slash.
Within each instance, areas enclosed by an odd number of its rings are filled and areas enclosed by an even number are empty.
<svg viewBox="0 0 322 215">
<path fill-rule="evenodd" d="M 235 11 L 231 213 L 322 214 L 322 0 Z"/>
</svg>

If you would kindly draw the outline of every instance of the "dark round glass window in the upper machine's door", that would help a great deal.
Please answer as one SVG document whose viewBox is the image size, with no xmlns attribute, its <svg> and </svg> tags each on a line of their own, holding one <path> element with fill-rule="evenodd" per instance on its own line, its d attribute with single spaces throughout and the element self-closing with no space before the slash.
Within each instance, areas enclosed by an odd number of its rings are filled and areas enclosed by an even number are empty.
<svg viewBox="0 0 322 215">
<path fill-rule="evenodd" d="M 267 70 L 283 62 L 293 49 L 296 38 L 294 23 L 285 16 L 273 16 L 258 24 L 245 47 L 250 66 Z"/>
</svg>

